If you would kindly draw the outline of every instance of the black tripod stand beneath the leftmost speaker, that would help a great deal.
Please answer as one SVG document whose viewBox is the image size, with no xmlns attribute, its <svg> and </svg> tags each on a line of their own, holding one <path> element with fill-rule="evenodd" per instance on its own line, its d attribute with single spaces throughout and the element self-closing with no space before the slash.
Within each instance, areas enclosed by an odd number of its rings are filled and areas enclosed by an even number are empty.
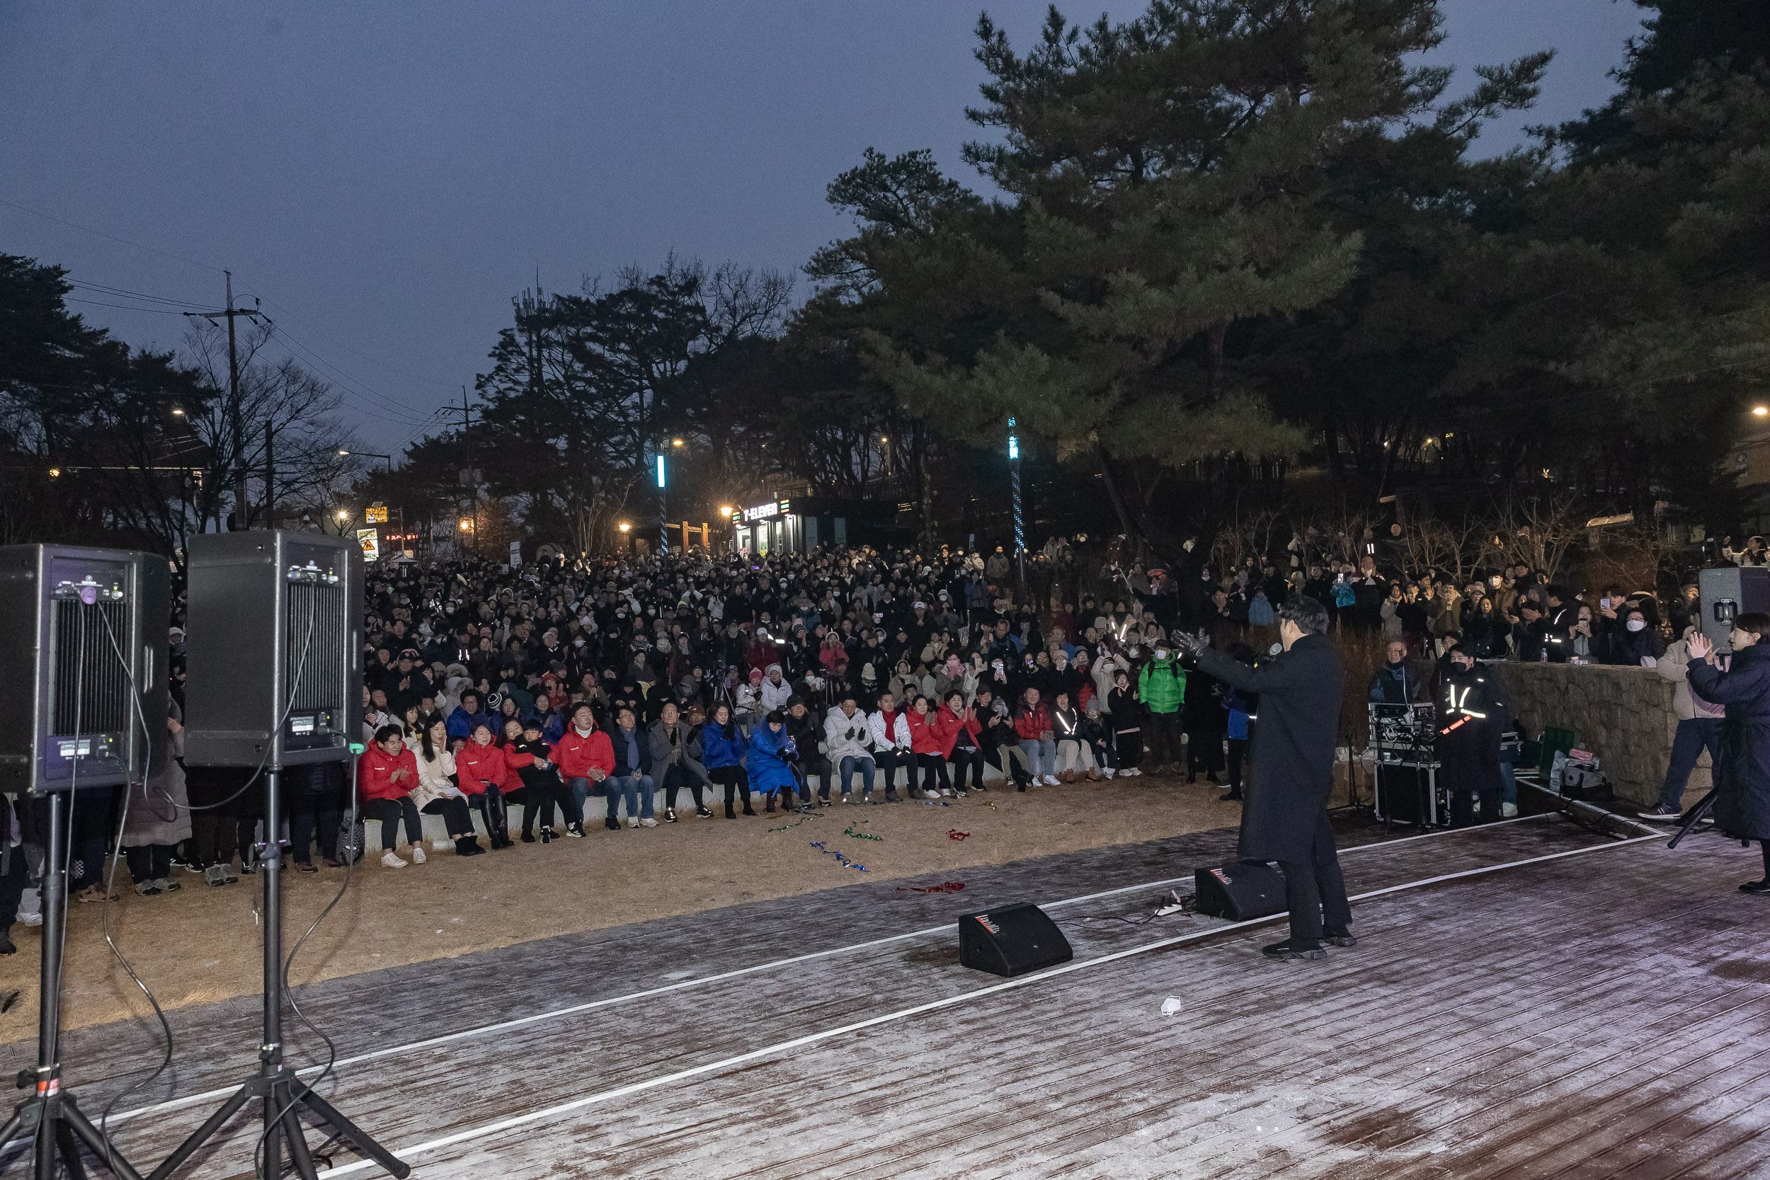
<svg viewBox="0 0 1770 1180">
<path fill-rule="evenodd" d="M 19 1088 L 30 1086 L 32 1095 L 19 1102 L 12 1118 L 0 1127 L 0 1146 L 11 1143 L 12 1136 L 30 1136 L 35 1180 L 55 1180 L 62 1173 L 62 1166 L 67 1168 L 69 1175 L 83 1178 L 87 1173 L 80 1159 L 81 1143 L 119 1180 L 142 1180 L 142 1173 L 131 1168 L 129 1161 L 110 1145 L 104 1132 L 80 1113 L 74 1095 L 62 1090 L 62 922 L 67 911 L 67 835 L 62 831 L 62 794 L 51 793 L 48 801 L 50 833 L 42 865 L 42 964 L 37 975 L 37 1069 L 23 1070 L 18 1076 Z M 12 854 L 23 856 L 25 853 L 12 849 Z"/>
</svg>

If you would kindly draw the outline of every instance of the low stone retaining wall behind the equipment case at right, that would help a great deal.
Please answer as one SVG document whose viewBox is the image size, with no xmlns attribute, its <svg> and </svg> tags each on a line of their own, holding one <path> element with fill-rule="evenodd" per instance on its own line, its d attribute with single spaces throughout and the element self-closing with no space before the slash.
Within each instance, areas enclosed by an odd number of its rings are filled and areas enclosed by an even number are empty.
<svg viewBox="0 0 1770 1180">
<path fill-rule="evenodd" d="M 1673 685 L 1643 667 L 1572 663 L 1494 663 L 1510 695 L 1506 704 L 1540 738 L 1561 725 L 1579 734 L 1579 747 L 1598 755 L 1618 798 L 1650 805 L 1658 800 L 1671 736 L 1678 725 Z M 1703 754 L 1685 800 L 1708 791 L 1708 754 Z"/>
</svg>

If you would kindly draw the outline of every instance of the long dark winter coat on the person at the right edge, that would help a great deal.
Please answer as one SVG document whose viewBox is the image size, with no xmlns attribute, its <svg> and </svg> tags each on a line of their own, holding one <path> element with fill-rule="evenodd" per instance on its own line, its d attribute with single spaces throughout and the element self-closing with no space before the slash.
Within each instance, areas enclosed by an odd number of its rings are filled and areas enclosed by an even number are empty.
<svg viewBox="0 0 1770 1180">
<path fill-rule="evenodd" d="M 1742 840 L 1770 840 L 1770 647 L 1733 653 L 1726 672 L 1690 660 L 1690 690 L 1724 704 L 1715 824 Z"/>
</svg>

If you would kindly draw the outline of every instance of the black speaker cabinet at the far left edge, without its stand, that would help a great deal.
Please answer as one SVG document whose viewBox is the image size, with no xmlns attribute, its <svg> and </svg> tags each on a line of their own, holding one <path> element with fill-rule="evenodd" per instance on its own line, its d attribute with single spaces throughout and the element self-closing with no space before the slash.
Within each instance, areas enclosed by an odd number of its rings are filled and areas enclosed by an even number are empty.
<svg viewBox="0 0 1770 1180">
<path fill-rule="evenodd" d="M 0 547 L 0 793 L 112 787 L 159 770 L 166 584 L 154 554 Z"/>
</svg>

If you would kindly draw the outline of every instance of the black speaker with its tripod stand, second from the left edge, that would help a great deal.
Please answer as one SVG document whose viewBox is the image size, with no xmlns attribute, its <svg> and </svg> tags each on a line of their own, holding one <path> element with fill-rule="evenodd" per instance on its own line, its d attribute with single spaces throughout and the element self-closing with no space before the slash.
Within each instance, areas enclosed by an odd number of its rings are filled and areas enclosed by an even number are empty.
<svg viewBox="0 0 1770 1180">
<path fill-rule="evenodd" d="M 283 766 L 352 757 L 363 713 L 363 552 L 313 533 L 205 533 L 189 547 L 184 761 L 242 766 L 264 782 L 264 1037 L 258 1070 L 154 1169 L 166 1180 L 248 1102 L 264 1106 L 264 1169 L 283 1173 L 283 1146 L 317 1180 L 303 1132 L 306 1109 L 333 1136 L 395 1176 L 388 1148 L 283 1065 Z"/>
</svg>

